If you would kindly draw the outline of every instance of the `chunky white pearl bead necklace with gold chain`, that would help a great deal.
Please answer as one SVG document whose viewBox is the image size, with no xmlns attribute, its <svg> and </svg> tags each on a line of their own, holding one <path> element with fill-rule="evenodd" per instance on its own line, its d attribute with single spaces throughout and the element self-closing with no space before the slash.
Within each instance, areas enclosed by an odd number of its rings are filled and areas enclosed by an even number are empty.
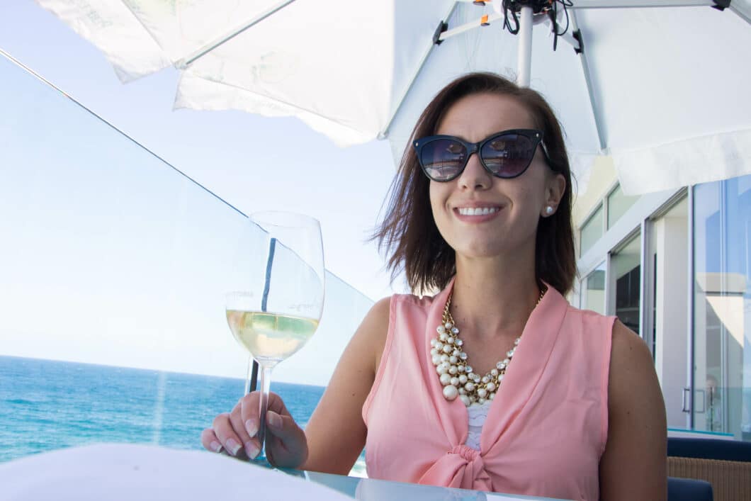
<svg viewBox="0 0 751 501">
<path fill-rule="evenodd" d="M 545 290 L 540 291 L 535 307 L 542 300 Z M 465 406 L 473 403 L 483 404 L 487 400 L 493 400 L 499 385 L 514 358 L 514 352 L 519 346 L 521 337 L 514 340 L 514 347 L 506 352 L 506 358 L 496 364 L 496 368 L 490 370 L 484 376 L 475 374 L 472 367 L 467 364 L 467 354 L 463 351 L 464 342 L 459 338 L 459 329 L 454 323 L 449 306 L 454 291 L 448 294 L 446 306 L 443 309 L 441 324 L 436 327 L 438 336 L 430 340 L 430 355 L 433 365 L 443 385 L 443 396 L 446 400 L 455 400 L 459 397 Z"/>
</svg>

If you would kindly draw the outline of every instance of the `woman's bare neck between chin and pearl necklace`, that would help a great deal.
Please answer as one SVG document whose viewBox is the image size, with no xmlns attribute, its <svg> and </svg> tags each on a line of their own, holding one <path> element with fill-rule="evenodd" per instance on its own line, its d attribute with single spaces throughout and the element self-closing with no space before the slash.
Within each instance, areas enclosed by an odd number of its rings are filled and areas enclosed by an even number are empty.
<svg viewBox="0 0 751 501">
<path fill-rule="evenodd" d="M 520 336 L 541 292 L 533 256 L 512 260 L 457 256 L 451 300 L 457 324 L 478 337 Z"/>
</svg>

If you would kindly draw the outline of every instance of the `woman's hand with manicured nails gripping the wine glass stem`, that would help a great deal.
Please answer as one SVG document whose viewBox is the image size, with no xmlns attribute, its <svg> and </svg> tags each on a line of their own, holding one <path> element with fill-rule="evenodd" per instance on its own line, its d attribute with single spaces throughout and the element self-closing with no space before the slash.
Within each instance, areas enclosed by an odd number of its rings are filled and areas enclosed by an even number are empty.
<svg viewBox="0 0 751 501">
<path fill-rule="evenodd" d="M 261 451 L 258 441 L 258 412 L 261 394 L 254 391 L 240 399 L 231 412 L 214 418 L 213 426 L 201 433 L 209 451 L 226 451 L 241 459 L 255 459 Z M 266 417 L 266 455 L 273 466 L 297 468 L 308 457 L 305 432 L 297 426 L 279 395 L 269 394 Z"/>
</svg>

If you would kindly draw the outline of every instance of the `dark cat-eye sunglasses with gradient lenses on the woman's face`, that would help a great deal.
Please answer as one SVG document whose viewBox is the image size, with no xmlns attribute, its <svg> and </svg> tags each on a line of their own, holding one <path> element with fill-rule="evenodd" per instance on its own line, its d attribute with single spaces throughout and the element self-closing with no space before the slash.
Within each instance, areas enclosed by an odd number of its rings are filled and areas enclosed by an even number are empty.
<svg viewBox="0 0 751 501">
<path fill-rule="evenodd" d="M 479 143 L 444 135 L 423 137 L 414 143 L 423 172 L 439 183 L 459 177 L 472 153 L 480 156 L 482 166 L 495 177 L 508 180 L 521 176 L 532 163 L 538 145 L 550 164 L 542 131 L 529 128 L 497 132 Z"/>
</svg>

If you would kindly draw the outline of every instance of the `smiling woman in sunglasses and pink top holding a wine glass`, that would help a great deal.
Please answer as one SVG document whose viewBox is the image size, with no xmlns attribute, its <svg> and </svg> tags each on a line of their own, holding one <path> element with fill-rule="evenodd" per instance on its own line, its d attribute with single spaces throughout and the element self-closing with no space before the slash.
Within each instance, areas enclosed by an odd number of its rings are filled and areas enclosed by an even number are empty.
<svg viewBox="0 0 751 501">
<path fill-rule="evenodd" d="M 376 237 L 413 290 L 375 303 L 306 430 L 279 397 L 270 460 L 566 499 L 665 499 L 665 411 L 644 343 L 572 308 L 569 162 L 536 92 L 469 74 L 424 111 Z M 496 401 L 497 400 L 497 401 Z M 204 430 L 258 454 L 258 396 Z M 244 444 L 244 448 L 241 444 Z"/>
</svg>

